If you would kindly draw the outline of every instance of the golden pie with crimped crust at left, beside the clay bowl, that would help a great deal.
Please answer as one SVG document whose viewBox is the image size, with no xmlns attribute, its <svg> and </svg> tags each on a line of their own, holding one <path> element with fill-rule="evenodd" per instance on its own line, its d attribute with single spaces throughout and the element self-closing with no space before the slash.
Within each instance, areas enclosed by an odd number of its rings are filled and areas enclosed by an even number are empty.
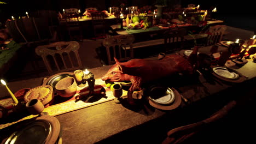
<svg viewBox="0 0 256 144">
<path fill-rule="evenodd" d="M 32 99 L 38 99 L 43 105 L 48 104 L 53 99 L 53 87 L 50 85 L 39 86 L 30 89 L 25 96 L 26 103 Z"/>
</svg>

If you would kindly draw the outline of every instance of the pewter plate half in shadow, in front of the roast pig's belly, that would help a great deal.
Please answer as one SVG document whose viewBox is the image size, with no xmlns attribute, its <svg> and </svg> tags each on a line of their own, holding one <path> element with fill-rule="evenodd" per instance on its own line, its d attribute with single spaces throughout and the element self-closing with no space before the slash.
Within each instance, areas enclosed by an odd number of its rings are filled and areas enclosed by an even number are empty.
<svg viewBox="0 0 256 144">
<path fill-rule="evenodd" d="M 153 87 L 150 89 L 150 95 L 149 98 L 154 101 L 154 103 L 162 105 L 171 104 L 175 99 L 175 95 L 171 88 Z"/>
</svg>

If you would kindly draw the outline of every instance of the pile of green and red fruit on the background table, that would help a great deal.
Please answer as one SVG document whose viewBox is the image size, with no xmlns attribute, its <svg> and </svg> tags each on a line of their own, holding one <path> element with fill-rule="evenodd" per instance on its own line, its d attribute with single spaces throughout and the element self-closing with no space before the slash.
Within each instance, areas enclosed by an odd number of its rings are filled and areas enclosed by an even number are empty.
<svg viewBox="0 0 256 144">
<path fill-rule="evenodd" d="M 149 20 L 150 18 L 148 16 L 133 16 L 132 17 L 132 23 L 129 23 L 129 28 L 148 28 L 152 26 L 152 22 Z"/>
</svg>

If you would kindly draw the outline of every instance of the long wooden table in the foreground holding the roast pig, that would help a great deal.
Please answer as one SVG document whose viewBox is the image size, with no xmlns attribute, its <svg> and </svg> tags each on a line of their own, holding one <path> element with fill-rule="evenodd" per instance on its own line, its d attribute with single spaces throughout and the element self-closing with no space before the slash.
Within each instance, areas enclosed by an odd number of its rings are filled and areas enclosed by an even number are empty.
<svg viewBox="0 0 256 144">
<path fill-rule="evenodd" d="M 110 67 L 112 65 L 90 69 L 90 71 L 95 74 L 95 79 L 98 79 Z M 182 104 L 174 110 L 163 111 L 148 104 L 146 104 L 147 109 L 144 109 L 143 106 L 130 107 L 125 103 L 115 104 L 112 100 L 58 115 L 56 118 L 61 124 L 62 141 L 63 143 L 122 143 L 122 141 L 159 143 L 165 139 L 168 130 L 195 121 L 195 118 L 187 117 L 188 113 L 185 114 L 187 107 L 191 105 L 200 107 L 202 100 L 204 105 L 216 106 L 226 104 L 226 101 L 238 99 L 241 96 L 246 98 L 245 92 L 251 89 L 247 86 L 255 85 L 256 63 L 249 61 L 241 68 L 232 67 L 232 69 L 248 79 L 242 83 L 226 83 L 217 79 L 206 79 L 201 74 L 194 78 L 190 77 L 190 79 L 184 79 L 184 77 L 166 79 L 170 82 L 170 86 L 176 88 L 183 97 L 189 100 L 188 103 L 182 101 Z M 33 88 L 39 86 L 43 78 L 10 82 L 8 86 L 14 92 L 25 87 Z M 239 89 L 240 86 L 242 86 L 243 92 Z M 0 89 L 2 98 L 8 96 L 4 86 L 1 85 Z M 136 99 L 136 95 L 133 97 Z M 200 109 L 206 108 L 200 107 Z M 194 112 L 200 113 L 199 111 Z"/>
</svg>

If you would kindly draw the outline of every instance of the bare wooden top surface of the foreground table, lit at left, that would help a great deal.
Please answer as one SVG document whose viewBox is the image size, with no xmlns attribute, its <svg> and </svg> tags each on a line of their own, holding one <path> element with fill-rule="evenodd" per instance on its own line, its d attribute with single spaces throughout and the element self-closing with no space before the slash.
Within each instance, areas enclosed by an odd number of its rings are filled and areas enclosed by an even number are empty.
<svg viewBox="0 0 256 144">
<path fill-rule="evenodd" d="M 95 74 L 95 78 L 97 79 L 106 73 L 111 66 L 112 65 L 108 65 L 89 70 Z M 256 77 L 256 63 L 253 63 L 252 61 L 248 61 L 248 63 L 241 68 L 233 67 L 232 69 L 235 69 L 242 75 L 248 77 L 247 81 Z M 17 91 L 18 89 L 24 87 L 32 88 L 39 86 L 42 83 L 43 78 L 44 77 L 25 81 L 10 82 L 8 83 L 8 86 L 12 91 Z M 210 97 L 216 93 L 220 93 L 228 88 L 236 86 L 234 83 L 227 84 L 219 80 L 208 82 L 203 75 L 199 75 L 198 79 L 195 80 L 198 81 L 191 82 L 193 79 L 184 80 L 183 82 L 185 83 L 177 83 L 178 85 L 175 87 L 178 89 L 179 93 L 183 95 L 183 97 L 190 101 L 188 104 L 194 104 L 200 99 Z M 173 84 L 175 85 L 175 83 Z M 0 89 L 2 95 L 8 95 L 8 92 L 4 86 L 1 85 Z M 136 98 L 136 95 L 133 95 L 133 97 Z M 110 136 L 117 135 L 123 131 L 136 129 L 139 125 L 156 121 L 159 118 L 165 117 L 166 115 L 175 118 L 173 117 L 173 113 L 186 106 L 187 104 L 182 101 L 181 106 L 170 111 L 158 110 L 148 105 L 146 106 L 148 109 L 144 109 L 143 107 L 136 107 L 135 109 L 135 107 L 127 106 L 125 103 L 116 104 L 113 100 L 111 100 L 105 103 L 85 107 L 84 109 L 64 113 L 55 117 L 59 119 L 61 124 L 63 143 L 85 143 L 85 141 L 86 143 L 96 143 L 107 139 Z M 172 125 L 172 127 L 173 126 L 174 125 Z M 126 137 L 129 139 L 128 135 Z"/>
</svg>

